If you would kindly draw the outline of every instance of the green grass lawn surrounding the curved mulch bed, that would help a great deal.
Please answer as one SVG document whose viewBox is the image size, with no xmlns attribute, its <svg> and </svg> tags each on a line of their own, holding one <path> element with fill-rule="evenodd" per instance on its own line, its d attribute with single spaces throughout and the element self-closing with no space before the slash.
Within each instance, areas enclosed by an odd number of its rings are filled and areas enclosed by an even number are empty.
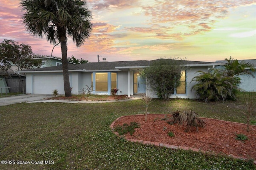
<svg viewBox="0 0 256 170">
<path fill-rule="evenodd" d="M 251 160 L 131 143 L 112 133 L 109 125 L 116 118 L 142 114 L 144 109 L 139 100 L 98 104 L 22 103 L 2 106 L 0 160 L 15 160 L 16 163 L 30 161 L 30 164 L 0 164 L 0 169 L 256 169 Z M 186 109 L 196 111 L 201 117 L 246 122 L 239 102 L 155 100 L 148 107 L 150 113 L 170 113 Z M 251 124 L 255 122 L 254 115 Z M 31 164 L 32 160 L 43 161 L 43 164 Z M 53 160 L 54 164 L 45 164 L 45 160 Z"/>
</svg>

